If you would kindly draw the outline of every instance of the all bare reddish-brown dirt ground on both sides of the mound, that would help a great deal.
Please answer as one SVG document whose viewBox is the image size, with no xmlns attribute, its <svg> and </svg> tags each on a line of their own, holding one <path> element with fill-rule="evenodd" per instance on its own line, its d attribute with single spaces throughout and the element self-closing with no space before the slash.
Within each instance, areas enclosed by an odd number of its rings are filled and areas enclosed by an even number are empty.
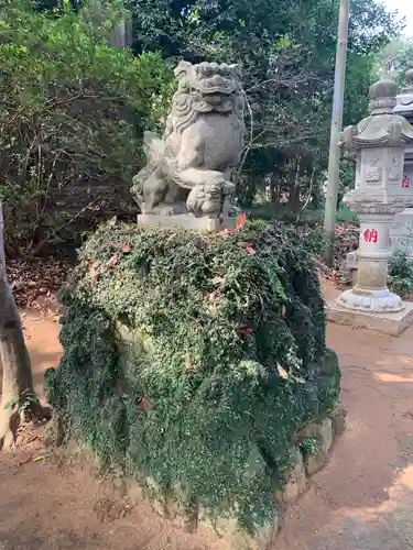
<svg viewBox="0 0 413 550">
<path fill-rule="evenodd" d="M 328 290 L 329 292 L 329 290 Z M 23 318 L 36 389 L 61 349 L 53 316 Z M 348 428 L 273 550 L 413 549 L 413 327 L 398 339 L 330 324 Z M 58 463 L 41 441 L 0 455 L 0 550 L 224 550 L 108 493 L 90 464 Z"/>
</svg>

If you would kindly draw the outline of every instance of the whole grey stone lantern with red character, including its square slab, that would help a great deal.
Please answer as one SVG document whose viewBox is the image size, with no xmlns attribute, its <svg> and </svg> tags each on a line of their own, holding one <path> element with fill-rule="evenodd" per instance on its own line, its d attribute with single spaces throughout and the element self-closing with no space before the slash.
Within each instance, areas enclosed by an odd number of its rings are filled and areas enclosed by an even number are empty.
<svg viewBox="0 0 413 550">
<path fill-rule="evenodd" d="M 341 134 L 340 145 L 356 155 L 357 163 L 356 186 L 345 202 L 360 221 L 358 271 L 354 288 L 343 293 L 328 312 L 333 321 L 394 334 L 413 320 L 411 307 L 387 286 L 391 223 L 413 202 L 412 186 L 403 180 L 404 151 L 413 143 L 413 128 L 393 113 L 396 94 L 398 86 L 390 80 L 371 86 L 370 116 Z"/>
</svg>

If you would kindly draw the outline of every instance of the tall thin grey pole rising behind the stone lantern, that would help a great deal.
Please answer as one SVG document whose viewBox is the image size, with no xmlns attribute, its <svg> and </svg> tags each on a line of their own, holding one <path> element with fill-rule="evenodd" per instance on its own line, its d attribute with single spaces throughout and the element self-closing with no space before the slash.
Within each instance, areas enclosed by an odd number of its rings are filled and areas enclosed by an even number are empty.
<svg viewBox="0 0 413 550">
<path fill-rule="evenodd" d="M 334 76 L 332 130 L 328 155 L 328 180 L 326 210 L 324 216 L 325 233 L 325 261 L 327 265 L 333 264 L 334 233 L 336 227 L 337 195 L 340 170 L 340 148 L 338 146 L 339 133 L 343 127 L 343 103 L 346 80 L 346 61 L 348 42 L 348 14 L 349 0 L 340 0 L 338 16 L 338 38 L 336 52 L 336 70 Z"/>
</svg>

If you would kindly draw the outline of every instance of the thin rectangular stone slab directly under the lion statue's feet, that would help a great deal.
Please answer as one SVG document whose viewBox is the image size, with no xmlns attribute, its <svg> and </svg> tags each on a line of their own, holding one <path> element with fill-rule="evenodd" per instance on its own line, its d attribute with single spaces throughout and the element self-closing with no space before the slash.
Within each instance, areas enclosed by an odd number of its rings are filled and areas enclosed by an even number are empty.
<svg viewBox="0 0 413 550">
<path fill-rule="evenodd" d="M 191 213 L 162 216 L 156 213 L 141 213 L 138 216 L 138 226 L 160 226 L 164 228 L 180 228 L 188 231 L 220 231 L 233 226 L 236 218 L 228 218 L 222 222 L 218 218 L 195 218 Z"/>
</svg>

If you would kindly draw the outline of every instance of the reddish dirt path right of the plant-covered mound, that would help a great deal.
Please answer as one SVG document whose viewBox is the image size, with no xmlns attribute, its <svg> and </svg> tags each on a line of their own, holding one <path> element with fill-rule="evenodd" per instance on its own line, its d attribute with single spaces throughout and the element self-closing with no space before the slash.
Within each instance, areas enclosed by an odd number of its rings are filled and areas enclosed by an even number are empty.
<svg viewBox="0 0 413 550">
<path fill-rule="evenodd" d="M 399 339 L 328 327 L 348 427 L 278 550 L 413 548 L 413 328 Z"/>
</svg>

